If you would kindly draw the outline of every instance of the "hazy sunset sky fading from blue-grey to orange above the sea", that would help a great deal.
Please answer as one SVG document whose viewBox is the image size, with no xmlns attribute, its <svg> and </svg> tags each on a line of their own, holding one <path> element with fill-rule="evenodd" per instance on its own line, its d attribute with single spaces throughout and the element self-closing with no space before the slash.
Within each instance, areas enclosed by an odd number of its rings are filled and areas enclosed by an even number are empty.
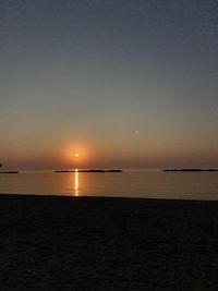
<svg viewBox="0 0 218 291">
<path fill-rule="evenodd" d="M 4 168 L 218 167 L 217 94 L 217 0 L 0 1 Z"/>
</svg>

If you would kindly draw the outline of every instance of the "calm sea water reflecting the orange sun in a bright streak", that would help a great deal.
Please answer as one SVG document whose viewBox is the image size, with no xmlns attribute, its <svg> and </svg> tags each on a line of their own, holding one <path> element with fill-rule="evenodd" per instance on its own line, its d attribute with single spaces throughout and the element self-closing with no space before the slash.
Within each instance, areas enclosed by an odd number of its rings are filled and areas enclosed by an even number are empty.
<svg viewBox="0 0 218 291">
<path fill-rule="evenodd" d="M 21 172 L 0 174 L 0 194 L 218 199 L 218 172 Z"/>
</svg>

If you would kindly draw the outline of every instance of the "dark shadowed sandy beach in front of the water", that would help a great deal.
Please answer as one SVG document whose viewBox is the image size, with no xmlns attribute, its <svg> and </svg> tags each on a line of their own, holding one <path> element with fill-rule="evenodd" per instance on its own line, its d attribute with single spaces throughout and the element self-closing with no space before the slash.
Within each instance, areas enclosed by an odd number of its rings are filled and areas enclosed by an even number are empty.
<svg viewBox="0 0 218 291">
<path fill-rule="evenodd" d="M 0 290 L 218 290 L 218 203 L 0 196 Z"/>
</svg>

